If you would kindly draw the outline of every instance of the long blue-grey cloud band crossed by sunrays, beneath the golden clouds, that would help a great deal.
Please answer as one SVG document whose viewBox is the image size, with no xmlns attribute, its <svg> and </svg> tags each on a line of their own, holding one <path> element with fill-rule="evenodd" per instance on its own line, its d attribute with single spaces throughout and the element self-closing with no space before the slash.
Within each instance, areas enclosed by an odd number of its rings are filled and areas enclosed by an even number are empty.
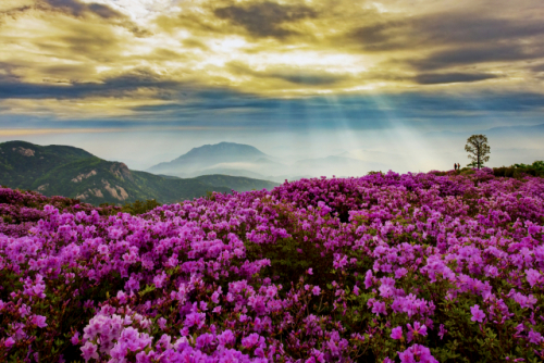
<svg viewBox="0 0 544 363">
<path fill-rule="evenodd" d="M 264 124 L 284 120 L 286 124 L 293 118 L 310 117 L 316 124 L 334 125 L 338 117 L 343 117 L 354 127 L 369 127 L 369 124 L 391 121 L 392 114 L 397 121 L 413 121 L 415 124 L 426 120 L 435 122 L 440 118 L 457 120 L 467 117 L 474 120 L 485 118 L 490 113 L 494 115 L 511 114 L 521 116 L 523 113 L 539 115 L 544 109 L 544 95 L 530 92 L 466 92 L 454 95 L 450 92 L 407 92 L 380 95 L 351 95 L 329 97 L 309 97 L 298 99 L 280 99 L 254 97 L 248 93 L 234 92 L 227 89 L 200 89 L 184 98 L 184 101 L 172 100 L 170 104 L 141 105 L 133 110 L 136 113 L 161 114 L 161 120 L 196 120 L 195 117 L 210 118 L 218 110 L 222 113 L 217 122 L 223 117 L 236 122 L 236 117 L 255 117 Z M 185 117 L 184 117 L 185 116 Z M 221 120 L 221 121 L 219 121 Z M 459 118 L 460 120 L 460 118 Z M 363 122 L 364 121 L 364 122 Z M 212 121 L 213 122 L 213 121 Z M 460 122 L 460 121 L 459 121 Z M 361 123 L 361 124 L 359 124 Z M 357 126 L 359 125 L 359 126 Z M 382 124 L 380 127 L 383 127 Z"/>
</svg>

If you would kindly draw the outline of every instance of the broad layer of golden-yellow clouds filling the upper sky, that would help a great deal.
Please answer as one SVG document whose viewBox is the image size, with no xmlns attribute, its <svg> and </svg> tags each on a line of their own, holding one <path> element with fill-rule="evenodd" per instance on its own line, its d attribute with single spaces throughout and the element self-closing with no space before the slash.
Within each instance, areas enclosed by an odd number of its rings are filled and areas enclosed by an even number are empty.
<svg viewBox="0 0 544 363">
<path fill-rule="evenodd" d="M 186 0 L 173 12 L 163 2 L 136 12 L 110 0 L 3 0 L 0 105 L 131 115 L 182 102 L 190 87 L 298 97 L 542 86 L 540 0 Z"/>
</svg>

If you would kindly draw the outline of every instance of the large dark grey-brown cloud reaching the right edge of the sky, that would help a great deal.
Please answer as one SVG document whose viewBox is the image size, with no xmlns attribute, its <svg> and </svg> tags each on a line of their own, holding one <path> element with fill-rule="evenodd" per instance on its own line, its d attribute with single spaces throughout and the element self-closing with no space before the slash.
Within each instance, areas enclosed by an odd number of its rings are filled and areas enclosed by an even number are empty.
<svg viewBox="0 0 544 363">
<path fill-rule="evenodd" d="M 540 18 L 506 18 L 478 12 L 431 13 L 400 18 L 391 16 L 376 14 L 374 22 L 348 32 L 346 39 L 362 51 L 419 52 L 419 57 L 412 53 L 396 63 L 420 72 L 544 57 L 544 42 L 541 40 L 544 22 Z M 490 78 L 483 75 L 462 76 L 460 73 L 463 72 L 456 72 L 454 78 L 461 82 Z M 424 85 L 444 83 L 441 76 L 434 75 L 418 76 L 416 82 Z"/>
</svg>

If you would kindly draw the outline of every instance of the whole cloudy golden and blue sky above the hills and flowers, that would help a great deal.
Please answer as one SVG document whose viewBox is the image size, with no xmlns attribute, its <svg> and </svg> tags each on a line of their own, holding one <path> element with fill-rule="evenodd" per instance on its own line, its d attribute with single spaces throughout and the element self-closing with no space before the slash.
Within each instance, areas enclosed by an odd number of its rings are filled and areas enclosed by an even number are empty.
<svg viewBox="0 0 544 363">
<path fill-rule="evenodd" d="M 1 0 L 0 142 L 144 170 L 194 147 L 395 171 L 544 159 L 542 0 Z"/>
</svg>

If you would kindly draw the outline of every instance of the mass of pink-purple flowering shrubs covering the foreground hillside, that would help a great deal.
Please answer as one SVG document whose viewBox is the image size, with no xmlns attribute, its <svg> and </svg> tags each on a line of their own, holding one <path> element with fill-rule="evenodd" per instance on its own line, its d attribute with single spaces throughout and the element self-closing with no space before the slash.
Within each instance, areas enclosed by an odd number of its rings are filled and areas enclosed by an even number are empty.
<svg viewBox="0 0 544 363">
<path fill-rule="evenodd" d="M 34 213 L 0 234 L 0 360 L 544 359 L 542 178 L 390 172 Z"/>
</svg>

